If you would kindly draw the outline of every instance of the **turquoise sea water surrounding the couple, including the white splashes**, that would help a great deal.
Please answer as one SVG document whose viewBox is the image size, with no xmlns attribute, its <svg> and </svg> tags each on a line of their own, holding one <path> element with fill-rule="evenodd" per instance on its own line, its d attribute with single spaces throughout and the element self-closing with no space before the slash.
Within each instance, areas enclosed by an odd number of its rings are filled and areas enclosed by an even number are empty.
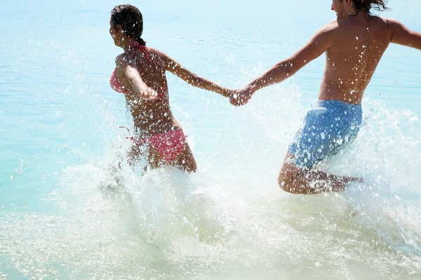
<svg viewBox="0 0 421 280">
<path fill-rule="evenodd" d="M 330 1 L 134 3 L 148 45 L 241 87 L 333 20 Z M 321 169 L 345 193 L 282 193 L 288 142 L 316 103 L 324 57 L 243 108 L 168 75 L 199 165 L 109 174 L 130 144 L 108 84 L 112 1 L 2 1 L 0 279 L 419 279 L 420 52 L 392 45 L 359 138 Z M 421 31 L 419 1 L 384 15 Z M 114 192 L 102 190 L 120 183 Z"/>
</svg>

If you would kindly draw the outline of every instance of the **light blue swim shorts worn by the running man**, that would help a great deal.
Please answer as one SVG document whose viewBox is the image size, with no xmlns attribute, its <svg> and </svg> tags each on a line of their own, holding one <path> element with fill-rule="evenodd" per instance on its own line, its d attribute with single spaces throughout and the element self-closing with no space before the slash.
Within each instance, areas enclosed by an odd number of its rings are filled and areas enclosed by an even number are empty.
<svg viewBox="0 0 421 280">
<path fill-rule="evenodd" d="M 324 158 L 355 139 L 363 118 L 361 104 L 336 100 L 319 101 L 308 111 L 288 153 L 297 167 L 311 169 Z"/>
</svg>

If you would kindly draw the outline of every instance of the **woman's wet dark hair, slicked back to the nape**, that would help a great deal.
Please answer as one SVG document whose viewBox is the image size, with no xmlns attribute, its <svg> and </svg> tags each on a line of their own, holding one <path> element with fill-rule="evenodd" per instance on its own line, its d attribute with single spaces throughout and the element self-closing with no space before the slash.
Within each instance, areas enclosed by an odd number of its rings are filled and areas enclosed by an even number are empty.
<svg viewBox="0 0 421 280">
<path fill-rule="evenodd" d="M 138 8 L 130 4 L 115 6 L 111 11 L 111 20 L 114 26 L 121 25 L 128 37 L 135 38 L 140 45 L 146 45 L 146 42 L 141 38 L 143 17 Z"/>
</svg>

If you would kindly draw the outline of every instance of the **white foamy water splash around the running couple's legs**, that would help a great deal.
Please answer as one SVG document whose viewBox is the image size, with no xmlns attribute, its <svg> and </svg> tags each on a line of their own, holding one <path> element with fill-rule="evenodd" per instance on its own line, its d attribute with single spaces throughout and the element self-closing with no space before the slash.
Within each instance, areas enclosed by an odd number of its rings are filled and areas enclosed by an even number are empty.
<svg viewBox="0 0 421 280">
<path fill-rule="evenodd" d="M 318 167 L 365 183 L 290 196 L 276 175 L 305 108 L 297 96 L 253 100 L 238 116 L 249 139 L 232 134 L 225 165 L 194 175 L 128 167 L 130 142 L 116 131 L 104 156 L 61 173 L 44 199 L 55 213 L 0 214 L 1 260 L 58 279 L 419 277 L 419 120 L 365 100 L 359 137 Z"/>
</svg>

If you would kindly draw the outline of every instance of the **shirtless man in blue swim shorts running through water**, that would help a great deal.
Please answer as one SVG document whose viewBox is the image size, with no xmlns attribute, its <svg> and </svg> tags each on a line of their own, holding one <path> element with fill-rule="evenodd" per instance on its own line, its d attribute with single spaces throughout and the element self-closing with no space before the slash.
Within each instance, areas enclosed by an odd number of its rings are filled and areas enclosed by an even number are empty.
<svg viewBox="0 0 421 280">
<path fill-rule="evenodd" d="M 398 43 L 421 50 L 421 34 L 397 20 L 372 15 L 387 10 L 387 0 L 333 0 L 337 20 L 314 34 L 293 56 L 276 64 L 230 98 L 244 105 L 263 87 L 293 76 L 307 63 L 326 52 L 326 68 L 316 109 L 307 113 L 302 129 L 288 148 L 279 174 L 279 186 L 294 194 L 340 191 L 357 178 L 314 170 L 314 165 L 333 155 L 359 132 L 364 91 L 389 46 Z"/>
</svg>

